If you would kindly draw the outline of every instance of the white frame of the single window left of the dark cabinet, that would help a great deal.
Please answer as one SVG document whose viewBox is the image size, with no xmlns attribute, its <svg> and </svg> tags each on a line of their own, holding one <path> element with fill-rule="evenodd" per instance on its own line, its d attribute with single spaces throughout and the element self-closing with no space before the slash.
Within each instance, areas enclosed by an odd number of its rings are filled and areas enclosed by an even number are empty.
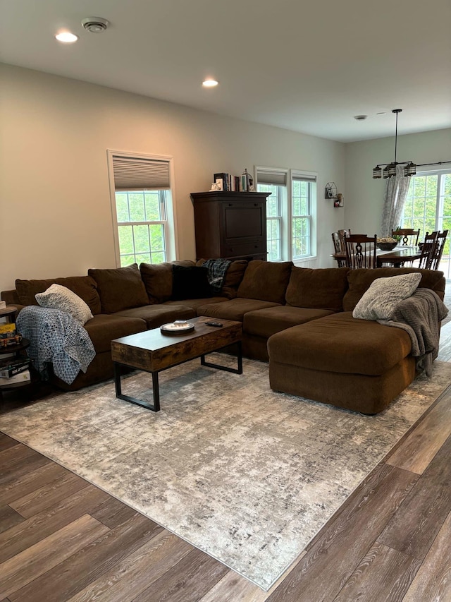
<svg viewBox="0 0 451 602">
<path fill-rule="evenodd" d="M 122 150 L 107 150 L 107 162 L 109 172 L 109 188 L 110 188 L 110 206 L 111 206 L 111 222 L 113 229 L 113 244 L 116 267 L 121 267 L 121 247 L 119 242 L 119 226 L 120 225 L 147 225 L 152 224 L 163 224 L 163 234 L 165 239 L 165 261 L 173 261 L 178 257 L 178 236 L 176 231 L 177 219 L 175 215 L 175 191 L 174 191 L 174 166 L 173 157 L 167 155 L 148 155 L 143 152 L 128 152 Z M 116 211 L 116 186 L 114 181 L 114 170 L 113 170 L 113 157 L 129 157 L 130 159 L 146 159 L 149 161 L 163 161 L 168 164 L 169 172 L 169 188 L 164 190 L 165 193 L 165 212 L 166 220 L 149 220 L 145 222 L 118 222 L 117 211 Z M 145 190 L 152 190 L 152 188 L 144 188 Z M 140 192 L 140 191 L 117 191 L 117 192 Z M 152 260 L 152 254 L 151 254 Z M 135 261 L 133 262 L 135 263 Z"/>
</svg>

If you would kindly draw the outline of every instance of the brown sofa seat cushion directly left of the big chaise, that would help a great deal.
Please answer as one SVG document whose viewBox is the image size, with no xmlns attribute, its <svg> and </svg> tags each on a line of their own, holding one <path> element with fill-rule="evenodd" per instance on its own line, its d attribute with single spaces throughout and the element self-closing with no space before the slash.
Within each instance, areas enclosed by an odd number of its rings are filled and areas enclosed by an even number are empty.
<svg viewBox="0 0 451 602">
<path fill-rule="evenodd" d="M 268 339 L 280 330 L 303 324 L 310 320 L 323 318 L 333 311 L 328 309 L 311 309 L 302 307 L 276 306 L 257 309 L 245 313 L 242 330 L 248 335 L 257 335 Z"/>
</svg>

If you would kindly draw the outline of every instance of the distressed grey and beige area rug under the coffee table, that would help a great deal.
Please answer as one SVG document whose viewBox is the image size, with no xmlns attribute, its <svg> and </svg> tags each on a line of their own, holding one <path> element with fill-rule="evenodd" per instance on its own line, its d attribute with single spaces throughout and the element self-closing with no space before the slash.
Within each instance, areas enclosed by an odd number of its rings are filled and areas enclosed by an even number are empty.
<svg viewBox="0 0 451 602">
<path fill-rule="evenodd" d="M 158 414 L 110 381 L 0 416 L 0 430 L 267 590 L 450 384 L 451 363 L 378 416 L 273 392 L 266 363 L 246 359 L 243 375 L 195 360 L 160 377 Z M 133 373 L 123 392 L 151 386 Z"/>
</svg>

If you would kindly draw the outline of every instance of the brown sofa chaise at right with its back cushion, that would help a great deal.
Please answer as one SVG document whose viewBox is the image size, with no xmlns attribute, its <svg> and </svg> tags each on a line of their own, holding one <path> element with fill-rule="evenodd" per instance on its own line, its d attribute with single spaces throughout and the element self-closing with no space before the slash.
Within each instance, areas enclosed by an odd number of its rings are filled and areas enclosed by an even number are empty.
<svg viewBox="0 0 451 602">
<path fill-rule="evenodd" d="M 419 287 L 443 299 L 443 272 L 414 268 L 350 270 L 345 311 L 269 337 L 269 381 L 273 390 L 346 409 L 376 414 L 416 376 L 409 335 L 399 328 L 352 317 L 376 278 L 421 272 Z"/>
</svg>

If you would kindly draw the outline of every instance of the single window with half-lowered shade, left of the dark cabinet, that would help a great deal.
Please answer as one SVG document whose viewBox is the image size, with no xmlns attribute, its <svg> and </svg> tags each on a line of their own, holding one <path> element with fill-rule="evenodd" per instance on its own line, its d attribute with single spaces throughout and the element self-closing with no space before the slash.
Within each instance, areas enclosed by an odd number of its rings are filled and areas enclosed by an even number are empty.
<svg viewBox="0 0 451 602">
<path fill-rule="evenodd" d="M 171 159 L 109 151 L 116 263 L 175 258 Z"/>
</svg>

